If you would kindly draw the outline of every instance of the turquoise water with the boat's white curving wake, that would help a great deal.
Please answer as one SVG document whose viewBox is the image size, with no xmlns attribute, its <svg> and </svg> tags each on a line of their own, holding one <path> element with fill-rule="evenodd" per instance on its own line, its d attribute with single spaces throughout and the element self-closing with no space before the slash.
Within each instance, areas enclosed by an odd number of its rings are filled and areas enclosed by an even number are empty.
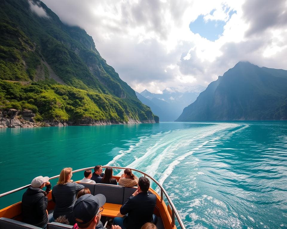
<svg viewBox="0 0 287 229">
<path fill-rule="evenodd" d="M 127 166 L 163 184 L 187 228 L 287 228 L 287 122 L 7 128 L 0 143 L 0 193 L 63 167 Z"/>
</svg>

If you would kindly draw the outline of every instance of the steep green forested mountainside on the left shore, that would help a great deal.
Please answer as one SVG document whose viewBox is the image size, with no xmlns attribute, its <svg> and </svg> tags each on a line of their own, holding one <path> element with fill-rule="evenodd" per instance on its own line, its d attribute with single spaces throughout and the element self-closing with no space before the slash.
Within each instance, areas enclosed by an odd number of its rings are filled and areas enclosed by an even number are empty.
<svg viewBox="0 0 287 229">
<path fill-rule="evenodd" d="M 0 1 L 0 110 L 69 125 L 155 122 L 85 30 L 38 0 Z"/>
</svg>

